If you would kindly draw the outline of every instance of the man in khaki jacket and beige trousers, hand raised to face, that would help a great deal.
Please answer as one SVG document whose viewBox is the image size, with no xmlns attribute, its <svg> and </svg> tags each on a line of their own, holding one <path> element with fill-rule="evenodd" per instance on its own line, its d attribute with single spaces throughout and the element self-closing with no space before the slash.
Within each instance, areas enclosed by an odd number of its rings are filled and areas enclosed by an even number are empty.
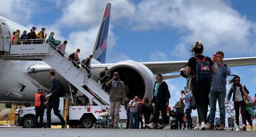
<svg viewBox="0 0 256 137">
<path fill-rule="evenodd" d="M 113 78 L 107 83 L 109 89 L 110 115 L 114 123 L 113 128 L 118 128 L 120 104 L 124 105 L 126 91 L 124 82 L 119 80 L 119 73 L 114 72 Z"/>
</svg>

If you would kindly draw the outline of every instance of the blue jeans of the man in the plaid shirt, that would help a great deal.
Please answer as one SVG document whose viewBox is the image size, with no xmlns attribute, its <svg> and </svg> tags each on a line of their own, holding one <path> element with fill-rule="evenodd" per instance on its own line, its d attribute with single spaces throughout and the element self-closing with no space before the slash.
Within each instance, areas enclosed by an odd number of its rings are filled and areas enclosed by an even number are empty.
<svg viewBox="0 0 256 137">
<path fill-rule="evenodd" d="M 225 125 L 225 101 L 226 92 L 210 92 L 210 120 L 209 122 L 214 125 L 215 123 L 215 112 L 216 112 L 216 102 L 218 100 L 219 108 L 220 108 L 220 123 Z"/>
</svg>

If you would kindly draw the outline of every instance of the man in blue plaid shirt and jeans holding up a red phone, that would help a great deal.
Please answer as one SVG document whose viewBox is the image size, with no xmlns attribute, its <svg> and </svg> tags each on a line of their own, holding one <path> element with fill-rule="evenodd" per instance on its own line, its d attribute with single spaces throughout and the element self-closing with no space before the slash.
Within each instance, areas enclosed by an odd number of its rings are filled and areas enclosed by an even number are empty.
<svg viewBox="0 0 256 137">
<path fill-rule="evenodd" d="M 213 57 L 215 62 L 216 74 L 213 74 L 211 81 L 211 90 L 209 94 L 210 100 L 210 120 L 206 125 L 207 130 L 214 130 L 216 101 L 218 100 L 220 108 L 220 127 L 217 130 L 224 130 L 225 128 L 225 106 L 226 98 L 226 77 L 230 75 L 230 69 L 223 64 L 224 53 L 222 51 L 216 52 Z"/>
</svg>

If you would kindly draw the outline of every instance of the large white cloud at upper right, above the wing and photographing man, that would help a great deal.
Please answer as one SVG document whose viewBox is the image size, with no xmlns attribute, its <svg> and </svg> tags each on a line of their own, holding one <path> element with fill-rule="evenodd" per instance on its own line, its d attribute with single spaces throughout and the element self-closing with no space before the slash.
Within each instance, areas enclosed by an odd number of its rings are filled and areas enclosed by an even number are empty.
<svg viewBox="0 0 256 137">
<path fill-rule="evenodd" d="M 255 53 L 255 23 L 223 1 L 142 1 L 137 6 L 132 28 L 175 29 L 181 42 L 176 45 L 189 49 L 198 39 L 205 51 L 225 53 Z M 237 52 L 239 51 L 239 52 Z M 184 55 L 176 55 L 183 57 Z"/>
</svg>

